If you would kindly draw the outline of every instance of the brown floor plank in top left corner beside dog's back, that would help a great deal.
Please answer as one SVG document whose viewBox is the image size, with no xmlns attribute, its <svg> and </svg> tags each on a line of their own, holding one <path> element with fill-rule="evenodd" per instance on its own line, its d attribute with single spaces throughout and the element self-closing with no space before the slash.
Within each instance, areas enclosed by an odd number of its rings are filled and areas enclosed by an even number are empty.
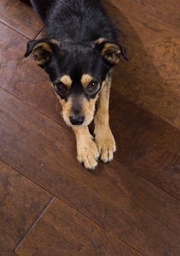
<svg viewBox="0 0 180 256">
<path fill-rule="evenodd" d="M 26 37 L 34 39 L 44 25 L 28 0 L 2 0 L 0 20 Z"/>
</svg>

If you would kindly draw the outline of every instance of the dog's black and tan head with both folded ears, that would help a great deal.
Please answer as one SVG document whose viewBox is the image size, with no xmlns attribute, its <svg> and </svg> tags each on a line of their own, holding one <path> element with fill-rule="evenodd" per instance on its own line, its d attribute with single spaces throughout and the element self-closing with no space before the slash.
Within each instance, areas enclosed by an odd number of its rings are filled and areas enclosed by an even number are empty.
<svg viewBox="0 0 180 256">
<path fill-rule="evenodd" d="M 69 126 L 91 123 L 107 74 L 119 62 L 120 55 L 128 60 L 125 47 L 103 38 L 83 44 L 32 40 L 25 56 L 31 52 L 37 65 L 48 73 Z"/>
</svg>

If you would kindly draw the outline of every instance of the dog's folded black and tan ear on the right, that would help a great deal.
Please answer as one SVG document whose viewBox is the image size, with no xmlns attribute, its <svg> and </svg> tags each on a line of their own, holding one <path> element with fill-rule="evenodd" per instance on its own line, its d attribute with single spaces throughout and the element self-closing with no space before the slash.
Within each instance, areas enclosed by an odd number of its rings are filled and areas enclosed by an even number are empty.
<svg viewBox="0 0 180 256">
<path fill-rule="evenodd" d="M 113 43 L 111 41 L 103 40 L 100 38 L 95 41 L 95 47 L 101 52 L 101 55 L 112 65 L 114 66 L 119 62 L 119 57 L 122 55 L 125 60 L 128 61 L 126 54 L 126 49 L 120 44 Z"/>
</svg>

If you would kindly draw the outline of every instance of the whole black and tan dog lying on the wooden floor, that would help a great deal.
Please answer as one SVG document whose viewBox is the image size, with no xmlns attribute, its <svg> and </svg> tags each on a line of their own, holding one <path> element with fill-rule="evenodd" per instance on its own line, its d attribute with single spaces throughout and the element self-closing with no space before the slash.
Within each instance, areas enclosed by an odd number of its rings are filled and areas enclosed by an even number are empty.
<svg viewBox="0 0 180 256">
<path fill-rule="evenodd" d="M 25 56 L 50 77 L 62 104 L 65 123 L 77 140 L 77 159 L 87 169 L 113 159 L 115 139 L 109 127 L 111 71 L 125 47 L 97 0 L 31 0 L 46 26 L 46 38 L 28 42 Z M 94 119 L 94 135 L 88 125 Z"/>
</svg>

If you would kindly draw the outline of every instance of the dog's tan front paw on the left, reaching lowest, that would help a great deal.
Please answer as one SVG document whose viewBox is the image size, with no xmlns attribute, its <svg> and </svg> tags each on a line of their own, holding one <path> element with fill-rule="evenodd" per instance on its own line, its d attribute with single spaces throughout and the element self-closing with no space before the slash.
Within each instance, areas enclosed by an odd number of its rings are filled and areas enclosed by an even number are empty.
<svg viewBox="0 0 180 256">
<path fill-rule="evenodd" d="M 77 160 L 83 163 L 86 169 L 93 170 L 98 164 L 100 153 L 92 139 L 77 145 Z"/>
</svg>

